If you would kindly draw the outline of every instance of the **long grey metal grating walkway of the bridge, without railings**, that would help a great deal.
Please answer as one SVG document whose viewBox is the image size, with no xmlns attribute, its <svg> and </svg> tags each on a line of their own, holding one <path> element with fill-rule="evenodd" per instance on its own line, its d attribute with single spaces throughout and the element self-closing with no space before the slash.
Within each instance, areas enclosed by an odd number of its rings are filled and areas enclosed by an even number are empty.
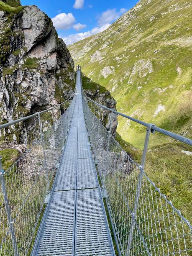
<svg viewBox="0 0 192 256">
<path fill-rule="evenodd" d="M 64 154 L 33 255 L 115 255 L 83 115 L 80 72 Z"/>
</svg>

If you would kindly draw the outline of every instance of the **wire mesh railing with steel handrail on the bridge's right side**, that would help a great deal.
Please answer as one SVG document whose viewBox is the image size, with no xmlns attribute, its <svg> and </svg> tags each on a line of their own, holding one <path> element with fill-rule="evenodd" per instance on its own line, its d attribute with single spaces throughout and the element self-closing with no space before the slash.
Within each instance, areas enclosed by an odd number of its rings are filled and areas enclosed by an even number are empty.
<svg viewBox="0 0 192 256">
<path fill-rule="evenodd" d="M 100 122 L 102 108 L 108 109 L 110 115 L 118 115 L 118 112 L 94 102 L 83 90 L 82 93 L 87 130 L 118 253 L 126 256 L 192 255 L 192 226 L 144 171 L 149 136 L 154 130 L 189 145 L 192 141 L 136 120 L 147 129 L 142 161 L 138 164 Z"/>
</svg>

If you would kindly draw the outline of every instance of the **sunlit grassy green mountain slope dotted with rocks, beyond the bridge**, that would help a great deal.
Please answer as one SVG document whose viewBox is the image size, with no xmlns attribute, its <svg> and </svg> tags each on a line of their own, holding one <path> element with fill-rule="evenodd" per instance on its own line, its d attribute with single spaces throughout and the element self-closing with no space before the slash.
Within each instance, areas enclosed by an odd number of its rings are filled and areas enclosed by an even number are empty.
<svg viewBox="0 0 192 256">
<path fill-rule="evenodd" d="M 118 111 L 191 137 L 191 13 L 191 0 L 141 0 L 106 31 L 68 48 L 84 74 L 110 90 Z M 142 147 L 145 129 L 118 122 L 122 138 Z M 167 140 L 156 136 L 153 144 Z"/>
</svg>

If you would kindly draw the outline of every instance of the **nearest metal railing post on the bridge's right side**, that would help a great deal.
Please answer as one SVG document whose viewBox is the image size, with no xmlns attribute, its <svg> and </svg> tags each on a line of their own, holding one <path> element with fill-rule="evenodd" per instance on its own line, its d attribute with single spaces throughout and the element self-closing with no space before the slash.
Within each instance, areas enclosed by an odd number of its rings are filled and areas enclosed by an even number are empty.
<svg viewBox="0 0 192 256">
<path fill-rule="evenodd" d="M 148 142 L 149 142 L 150 133 L 153 132 L 152 126 L 154 126 L 154 125 L 149 124 L 148 127 L 146 128 L 146 137 L 145 137 L 145 144 L 144 144 L 144 148 L 143 148 L 143 155 L 142 155 L 141 165 L 139 166 L 140 172 L 139 172 L 138 184 L 137 184 L 137 188 L 136 188 L 136 197 L 135 197 L 133 212 L 131 214 L 132 220 L 131 220 L 131 227 L 130 227 L 129 238 L 128 238 L 127 251 L 125 253 L 126 256 L 130 255 L 131 243 L 133 240 L 133 231 L 134 231 L 134 228 L 136 225 L 136 213 L 137 213 L 138 200 L 139 200 L 139 196 L 140 196 L 141 184 L 142 184 L 142 179 L 143 179 L 143 174 L 144 174 L 144 166 L 145 166 L 146 154 L 147 154 L 147 149 L 148 149 Z"/>
</svg>

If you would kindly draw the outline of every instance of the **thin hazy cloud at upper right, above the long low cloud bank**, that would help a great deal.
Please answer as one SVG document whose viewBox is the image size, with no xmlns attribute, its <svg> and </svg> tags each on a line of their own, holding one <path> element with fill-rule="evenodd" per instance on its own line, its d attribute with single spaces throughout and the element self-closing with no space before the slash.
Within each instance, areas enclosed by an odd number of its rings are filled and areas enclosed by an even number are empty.
<svg viewBox="0 0 192 256">
<path fill-rule="evenodd" d="M 121 8 L 119 12 L 117 12 L 116 8 L 108 9 L 97 17 L 98 24 L 99 26 L 102 26 L 106 23 L 110 23 L 113 20 L 117 20 L 120 17 L 120 15 L 122 15 L 125 12 L 125 8 Z"/>
</svg>

